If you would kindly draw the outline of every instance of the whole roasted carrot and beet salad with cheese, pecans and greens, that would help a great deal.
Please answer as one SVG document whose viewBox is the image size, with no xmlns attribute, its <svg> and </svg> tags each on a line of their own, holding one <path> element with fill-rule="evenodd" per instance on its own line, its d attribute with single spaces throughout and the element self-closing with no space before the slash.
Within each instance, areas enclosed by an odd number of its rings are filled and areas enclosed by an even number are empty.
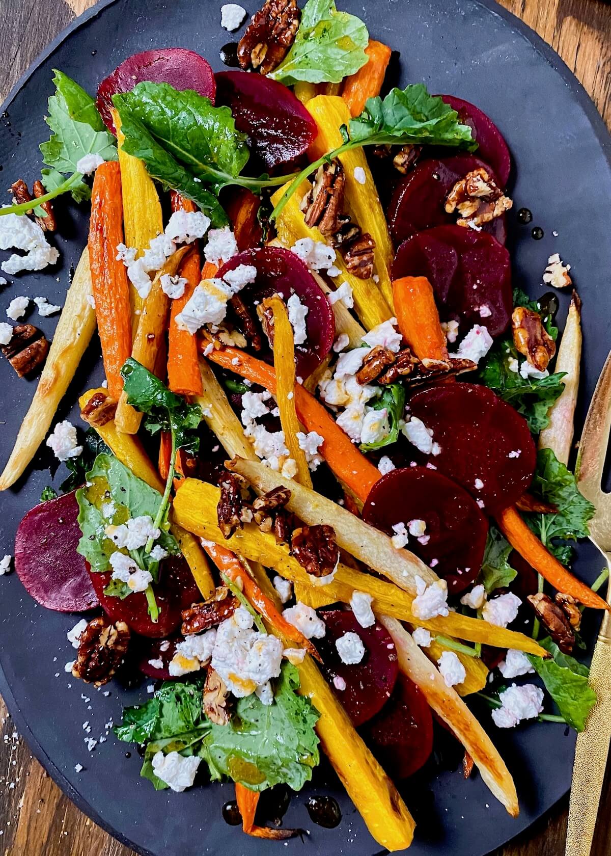
<svg viewBox="0 0 611 856">
<path fill-rule="evenodd" d="M 260 795 L 299 792 L 324 753 L 402 850 L 444 728 L 517 817 L 497 729 L 583 730 L 582 614 L 608 608 L 608 572 L 571 571 L 595 510 L 568 467 L 571 266 L 550 257 L 547 293 L 525 294 L 507 219 L 531 216 L 501 132 L 389 86 L 392 46 L 359 18 L 333 0 L 221 14 L 221 73 L 160 48 L 93 98 L 56 70 L 44 168 L 0 208 L 8 276 L 51 276 L 67 211 L 91 211 L 64 305 L 33 301 L 61 312 L 52 342 L 27 296 L 0 323 L 15 372 L 40 373 L 0 489 L 43 443 L 67 469 L 21 521 L 15 571 L 84 614 L 74 679 L 145 676 L 114 732 L 151 788 L 232 781 L 230 822 L 283 840 L 300 830 L 265 825 Z M 105 381 L 74 425 L 56 411 L 96 330 Z"/>
</svg>

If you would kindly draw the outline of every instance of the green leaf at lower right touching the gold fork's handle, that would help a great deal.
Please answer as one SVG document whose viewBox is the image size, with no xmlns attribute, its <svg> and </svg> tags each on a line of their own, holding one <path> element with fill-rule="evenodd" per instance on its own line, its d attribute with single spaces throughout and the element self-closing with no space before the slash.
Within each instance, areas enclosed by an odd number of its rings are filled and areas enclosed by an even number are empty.
<svg viewBox="0 0 611 856">
<path fill-rule="evenodd" d="M 546 690 L 558 705 L 566 722 L 576 731 L 583 731 L 590 710 L 596 704 L 596 693 L 588 684 L 589 670 L 574 657 L 563 654 L 551 639 L 539 639 L 553 659 L 543 660 L 527 654 L 533 668 L 540 675 Z"/>
</svg>

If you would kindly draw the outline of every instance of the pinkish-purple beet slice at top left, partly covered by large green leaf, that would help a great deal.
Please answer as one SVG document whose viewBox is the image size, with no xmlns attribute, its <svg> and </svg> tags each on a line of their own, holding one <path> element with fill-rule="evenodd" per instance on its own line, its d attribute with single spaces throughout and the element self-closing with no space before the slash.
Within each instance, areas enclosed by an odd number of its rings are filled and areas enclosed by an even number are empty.
<svg viewBox="0 0 611 856">
<path fill-rule="evenodd" d="M 116 92 L 131 92 L 142 80 L 169 83 L 181 92 L 194 89 L 214 104 L 217 84 L 210 63 L 186 48 L 155 48 L 123 60 L 98 86 L 98 110 L 111 134 L 116 134 L 110 108 Z"/>
</svg>

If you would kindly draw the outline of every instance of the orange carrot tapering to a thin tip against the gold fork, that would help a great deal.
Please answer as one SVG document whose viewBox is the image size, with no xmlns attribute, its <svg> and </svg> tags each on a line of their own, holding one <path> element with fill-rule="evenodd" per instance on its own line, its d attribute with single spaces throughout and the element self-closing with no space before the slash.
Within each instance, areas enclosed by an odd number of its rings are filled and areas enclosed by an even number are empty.
<svg viewBox="0 0 611 856">
<path fill-rule="evenodd" d="M 605 603 L 602 597 L 598 597 L 596 592 L 590 589 L 590 586 L 586 586 L 585 583 L 574 577 L 570 571 L 567 571 L 567 568 L 558 562 L 555 556 L 552 556 L 534 532 L 531 532 L 526 526 L 516 508 L 513 506 L 506 508 L 496 515 L 496 520 L 513 550 L 518 550 L 519 555 L 558 591 L 572 595 L 584 606 L 611 610 L 611 606 Z"/>
</svg>

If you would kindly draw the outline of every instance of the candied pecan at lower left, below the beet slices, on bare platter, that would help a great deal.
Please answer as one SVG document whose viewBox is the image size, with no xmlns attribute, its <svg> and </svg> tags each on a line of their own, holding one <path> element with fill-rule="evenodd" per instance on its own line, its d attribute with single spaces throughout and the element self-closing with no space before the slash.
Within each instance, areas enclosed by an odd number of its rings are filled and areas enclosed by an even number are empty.
<svg viewBox="0 0 611 856">
<path fill-rule="evenodd" d="M 74 677 L 96 687 L 108 683 L 128 652 L 129 637 L 125 621 L 113 624 L 106 615 L 92 619 L 80 634 L 79 652 L 72 667 Z"/>
</svg>

